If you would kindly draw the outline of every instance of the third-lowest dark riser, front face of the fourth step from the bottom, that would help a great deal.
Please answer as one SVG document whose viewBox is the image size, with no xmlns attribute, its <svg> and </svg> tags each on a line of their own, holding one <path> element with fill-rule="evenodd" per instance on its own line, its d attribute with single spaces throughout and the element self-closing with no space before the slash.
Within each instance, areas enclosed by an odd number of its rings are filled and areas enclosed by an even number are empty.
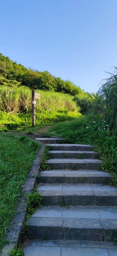
<svg viewBox="0 0 117 256">
<path fill-rule="evenodd" d="M 108 177 L 110 178 L 110 177 Z M 39 177 L 40 183 L 91 183 L 91 184 L 103 184 L 106 177 Z"/>
</svg>

